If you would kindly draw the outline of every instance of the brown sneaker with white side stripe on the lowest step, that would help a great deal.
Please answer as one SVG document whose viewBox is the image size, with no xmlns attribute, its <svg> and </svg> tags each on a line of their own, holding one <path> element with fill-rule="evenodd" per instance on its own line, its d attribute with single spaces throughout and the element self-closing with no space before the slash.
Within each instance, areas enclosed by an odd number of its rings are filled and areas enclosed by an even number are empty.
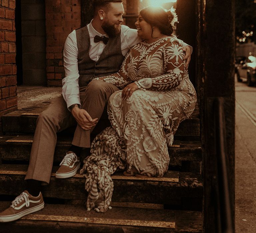
<svg viewBox="0 0 256 233">
<path fill-rule="evenodd" d="M 25 190 L 12 201 L 12 205 L 8 209 L 0 213 L 0 222 L 14 221 L 43 208 L 42 193 L 40 192 L 38 197 L 34 197 Z"/>
</svg>

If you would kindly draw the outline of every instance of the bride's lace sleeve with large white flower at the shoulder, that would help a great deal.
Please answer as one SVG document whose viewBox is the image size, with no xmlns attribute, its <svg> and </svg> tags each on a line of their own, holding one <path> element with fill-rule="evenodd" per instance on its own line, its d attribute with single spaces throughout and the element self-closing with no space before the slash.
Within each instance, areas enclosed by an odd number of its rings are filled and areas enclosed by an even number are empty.
<svg viewBox="0 0 256 233">
<path fill-rule="evenodd" d="M 178 41 L 170 41 L 163 49 L 165 74 L 154 78 L 144 78 L 134 83 L 139 89 L 170 90 L 181 83 L 185 71 L 184 52 Z"/>
</svg>

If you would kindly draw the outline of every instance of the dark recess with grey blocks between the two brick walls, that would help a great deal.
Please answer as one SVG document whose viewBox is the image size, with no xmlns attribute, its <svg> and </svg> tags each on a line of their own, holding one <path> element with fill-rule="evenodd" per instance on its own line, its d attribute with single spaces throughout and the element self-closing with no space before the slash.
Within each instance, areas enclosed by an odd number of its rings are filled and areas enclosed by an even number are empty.
<svg viewBox="0 0 256 233">
<path fill-rule="evenodd" d="M 45 1 L 16 1 L 17 84 L 46 86 Z"/>
</svg>

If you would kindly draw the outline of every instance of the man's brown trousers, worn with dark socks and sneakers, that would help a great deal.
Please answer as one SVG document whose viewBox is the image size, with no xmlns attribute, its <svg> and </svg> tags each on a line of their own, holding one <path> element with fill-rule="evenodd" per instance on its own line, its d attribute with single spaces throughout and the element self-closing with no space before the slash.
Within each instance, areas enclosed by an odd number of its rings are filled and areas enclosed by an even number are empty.
<svg viewBox="0 0 256 233">
<path fill-rule="evenodd" d="M 103 81 L 92 81 L 87 87 L 79 90 L 82 108 L 93 119 L 96 117 L 100 119 L 109 97 L 118 90 L 112 84 Z M 25 179 L 39 180 L 49 184 L 57 142 L 56 133 L 75 124 L 76 120 L 67 109 L 67 104 L 62 96 L 54 99 L 49 107 L 38 116 Z M 84 130 L 77 124 L 72 144 L 80 147 L 90 147 L 90 133 L 92 130 L 93 128 Z"/>
</svg>

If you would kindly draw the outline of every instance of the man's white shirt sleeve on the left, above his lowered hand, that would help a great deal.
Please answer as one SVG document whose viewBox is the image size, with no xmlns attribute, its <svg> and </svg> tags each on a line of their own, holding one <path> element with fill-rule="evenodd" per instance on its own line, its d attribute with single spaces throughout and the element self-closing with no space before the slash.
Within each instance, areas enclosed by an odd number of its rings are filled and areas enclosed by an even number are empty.
<svg viewBox="0 0 256 233">
<path fill-rule="evenodd" d="M 71 32 L 65 42 L 63 59 L 65 78 L 62 80 L 62 95 L 67 103 L 67 108 L 73 104 L 81 105 L 78 84 L 78 49 L 76 43 L 76 32 Z"/>
</svg>

